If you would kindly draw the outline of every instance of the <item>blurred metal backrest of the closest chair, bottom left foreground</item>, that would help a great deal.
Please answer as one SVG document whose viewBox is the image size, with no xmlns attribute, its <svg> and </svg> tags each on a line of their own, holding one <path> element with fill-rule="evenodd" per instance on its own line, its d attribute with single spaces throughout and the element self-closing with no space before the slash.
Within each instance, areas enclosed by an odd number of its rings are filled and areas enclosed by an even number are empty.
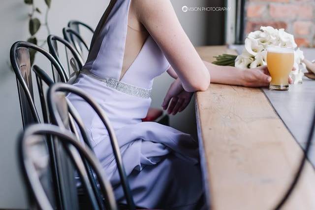
<svg viewBox="0 0 315 210">
<path fill-rule="evenodd" d="M 46 138 L 47 136 L 53 138 Z M 86 160 L 89 165 L 92 166 L 105 199 L 106 209 L 117 209 L 112 187 L 103 173 L 100 163 L 93 152 L 87 148 L 86 145 L 82 145 L 71 132 L 62 130 L 54 125 L 37 124 L 28 127 L 25 132 L 20 135 L 19 140 L 20 164 L 32 205 L 35 204 L 35 206 L 43 210 L 54 209 L 51 195 L 48 195 L 50 192 L 48 185 L 51 186 L 55 183 L 51 183 L 49 180 L 42 178 L 42 175 L 46 172 L 48 159 L 51 158 L 47 152 L 44 152 L 45 147 L 43 146 L 43 140 L 45 143 L 53 140 L 60 142 L 60 145 L 63 146 L 80 177 L 82 177 L 82 172 L 86 173 L 86 169 L 82 164 L 83 160 Z M 67 176 L 74 177 L 75 174 L 67 174 Z M 73 195 L 69 196 L 71 197 Z M 78 203 L 73 203 L 70 209 L 78 209 Z M 100 208 L 94 206 L 93 209 L 98 210 Z"/>
</svg>

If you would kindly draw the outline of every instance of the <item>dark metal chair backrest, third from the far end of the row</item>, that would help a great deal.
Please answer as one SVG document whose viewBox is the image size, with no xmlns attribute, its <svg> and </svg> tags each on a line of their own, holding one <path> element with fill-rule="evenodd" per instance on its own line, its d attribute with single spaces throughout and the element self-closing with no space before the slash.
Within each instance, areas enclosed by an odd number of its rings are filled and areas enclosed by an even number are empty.
<svg viewBox="0 0 315 210">
<path fill-rule="evenodd" d="M 62 59 L 60 58 L 60 53 L 58 52 L 58 44 L 63 44 L 65 48 L 65 55 L 66 55 L 66 61 L 67 61 L 67 67 L 68 67 L 68 74 L 71 75 L 72 72 L 78 72 L 82 69 L 84 62 L 81 57 L 81 55 L 77 52 L 77 50 L 71 45 L 70 42 L 63 39 L 60 36 L 56 35 L 49 35 L 47 37 L 47 43 L 49 47 L 49 52 L 52 54 L 52 56 L 58 61 L 58 63 L 63 67 L 62 65 Z M 64 70 L 64 69 L 63 69 Z M 66 70 L 64 70 L 66 71 Z"/>
</svg>

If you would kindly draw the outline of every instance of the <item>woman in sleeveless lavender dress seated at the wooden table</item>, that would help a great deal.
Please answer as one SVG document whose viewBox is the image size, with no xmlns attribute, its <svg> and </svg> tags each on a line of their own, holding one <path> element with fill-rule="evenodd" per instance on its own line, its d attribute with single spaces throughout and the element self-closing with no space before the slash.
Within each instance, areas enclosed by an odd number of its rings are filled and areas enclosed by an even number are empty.
<svg viewBox="0 0 315 210">
<path fill-rule="evenodd" d="M 207 90 L 210 76 L 212 83 L 267 86 L 268 70 L 239 70 L 202 61 L 169 0 L 111 0 L 90 49 L 74 85 L 89 92 L 109 117 L 136 205 L 201 209 L 197 142 L 173 128 L 141 122 L 151 103 L 153 79 L 165 71 L 174 77 L 162 106 L 176 114 L 189 104 L 193 92 Z M 125 202 L 106 130 L 88 105 L 68 97 L 89 128 L 116 199 Z"/>
</svg>

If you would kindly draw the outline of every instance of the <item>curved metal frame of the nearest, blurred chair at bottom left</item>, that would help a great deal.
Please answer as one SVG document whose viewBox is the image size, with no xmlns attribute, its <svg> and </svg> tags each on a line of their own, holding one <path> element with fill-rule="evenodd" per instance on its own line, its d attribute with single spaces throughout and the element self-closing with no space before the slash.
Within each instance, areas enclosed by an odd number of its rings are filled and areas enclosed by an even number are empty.
<svg viewBox="0 0 315 210">
<path fill-rule="evenodd" d="M 33 142 L 36 142 L 36 139 L 34 140 L 32 139 L 32 137 L 34 138 L 38 135 L 57 137 L 46 138 L 45 140 L 48 141 L 54 139 L 62 142 L 63 147 L 71 157 L 71 160 L 77 168 L 79 174 L 81 174 L 82 171 L 85 171 L 85 168 L 82 166 L 82 164 L 80 164 L 82 163 L 82 159 L 84 158 L 85 160 L 87 160 L 87 162 L 89 162 L 89 164 L 94 169 L 95 175 L 98 177 L 99 185 L 104 195 L 106 208 L 110 210 L 117 210 L 113 189 L 108 179 L 106 179 L 106 176 L 103 173 L 103 169 L 101 168 L 97 158 L 95 157 L 91 149 L 82 145 L 69 131 L 64 131 L 57 126 L 47 124 L 32 125 L 28 129 L 26 129 L 24 134 L 22 134 L 19 138 L 19 155 L 21 168 L 25 175 L 29 190 L 32 194 L 31 200 L 32 198 L 35 198 L 35 201 L 40 209 L 53 210 L 53 207 L 49 202 L 43 186 L 41 185 L 39 177 L 36 175 L 34 165 L 32 164 L 32 161 L 29 157 L 30 152 L 28 151 L 28 141 L 32 140 Z M 69 150 L 69 147 L 66 145 L 73 146 L 78 152 L 79 156 L 73 156 L 71 151 Z M 97 210 L 97 206 L 94 209 Z"/>
</svg>

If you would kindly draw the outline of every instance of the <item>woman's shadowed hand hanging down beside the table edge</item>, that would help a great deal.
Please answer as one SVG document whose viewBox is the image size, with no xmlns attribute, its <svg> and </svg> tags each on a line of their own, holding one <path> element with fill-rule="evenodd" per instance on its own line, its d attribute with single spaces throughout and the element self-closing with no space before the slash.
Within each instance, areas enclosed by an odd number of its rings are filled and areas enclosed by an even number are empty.
<svg viewBox="0 0 315 210">
<path fill-rule="evenodd" d="M 193 92 L 185 91 L 181 80 L 176 79 L 168 89 L 162 107 L 164 110 L 168 107 L 167 113 L 175 115 L 189 105 L 192 95 Z"/>
</svg>

